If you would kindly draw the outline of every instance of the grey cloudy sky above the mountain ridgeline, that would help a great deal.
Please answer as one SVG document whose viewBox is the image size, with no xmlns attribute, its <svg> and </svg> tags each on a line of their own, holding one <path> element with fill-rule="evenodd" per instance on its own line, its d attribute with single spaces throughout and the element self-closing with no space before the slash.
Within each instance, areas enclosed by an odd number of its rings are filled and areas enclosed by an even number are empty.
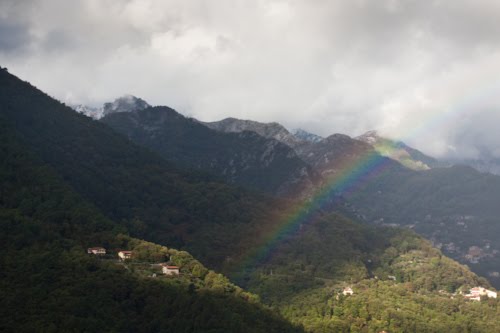
<svg viewBox="0 0 500 333">
<path fill-rule="evenodd" d="M 0 0 L 0 65 L 69 104 L 500 157 L 497 0 Z"/>
</svg>

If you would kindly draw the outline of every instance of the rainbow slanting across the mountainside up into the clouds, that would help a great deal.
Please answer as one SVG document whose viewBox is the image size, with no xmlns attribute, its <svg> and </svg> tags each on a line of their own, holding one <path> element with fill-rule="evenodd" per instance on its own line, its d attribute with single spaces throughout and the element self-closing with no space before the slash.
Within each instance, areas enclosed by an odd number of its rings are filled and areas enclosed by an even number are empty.
<svg viewBox="0 0 500 333">
<path fill-rule="evenodd" d="M 464 114 L 471 106 L 495 93 L 495 90 L 481 89 L 475 95 L 462 98 L 458 107 L 449 107 L 444 112 L 425 119 L 408 131 L 409 135 L 403 140 L 411 142 L 411 139 L 420 137 L 426 132 L 428 133 L 437 128 L 438 125 L 449 121 L 452 117 Z M 391 150 L 398 149 L 400 145 L 401 141 L 386 145 L 384 148 L 390 154 Z M 286 217 L 267 231 L 258 246 L 247 250 L 243 254 L 236 269 L 233 270 L 237 272 L 236 278 L 244 276 L 259 263 L 265 262 L 276 251 L 279 244 L 295 235 L 302 225 L 312 221 L 325 204 L 340 196 L 348 196 L 355 191 L 360 191 L 363 184 L 381 175 L 392 164 L 391 159 L 386 156 L 371 150 L 356 159 L 341 161 L 338 171 L 327 179 L 325 185 L 317 190 L 310 200 L 290 208 L 285 214 Z"/>
</svg>

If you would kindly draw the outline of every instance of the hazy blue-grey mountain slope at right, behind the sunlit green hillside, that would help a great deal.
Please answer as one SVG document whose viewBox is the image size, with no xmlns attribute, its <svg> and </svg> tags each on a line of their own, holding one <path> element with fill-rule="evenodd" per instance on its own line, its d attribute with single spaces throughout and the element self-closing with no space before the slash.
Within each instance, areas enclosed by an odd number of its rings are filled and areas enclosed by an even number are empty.
<svg viewBox="0 0 500 333">
<path fill-rule="evenodd" d="M 373 223 L 411 228 L 431 239 L 498 287 L 499 197 L 500 177 L 453 166 L 385 173 L 347 200 Z"/>
</svg>

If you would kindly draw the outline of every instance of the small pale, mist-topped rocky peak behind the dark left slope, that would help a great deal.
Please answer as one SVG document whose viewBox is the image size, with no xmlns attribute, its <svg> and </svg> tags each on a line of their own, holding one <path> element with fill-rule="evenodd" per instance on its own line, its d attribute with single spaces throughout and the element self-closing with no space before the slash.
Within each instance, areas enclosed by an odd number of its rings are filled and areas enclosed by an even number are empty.
<svg viewBox="0 0 500 333">
<path fill-rule="evenodd" d="M 132 95 L 124 95 L 113 102 L 104 103 L 102 107 L 91 107 L 83 104 L 72 105 L 71 107 L 78 113 L 87 117 L 101 119 L 102 117 L 117 112 L 132 112 L 144 110 L 150 107 L 145 100 Z"/>
</svg>

